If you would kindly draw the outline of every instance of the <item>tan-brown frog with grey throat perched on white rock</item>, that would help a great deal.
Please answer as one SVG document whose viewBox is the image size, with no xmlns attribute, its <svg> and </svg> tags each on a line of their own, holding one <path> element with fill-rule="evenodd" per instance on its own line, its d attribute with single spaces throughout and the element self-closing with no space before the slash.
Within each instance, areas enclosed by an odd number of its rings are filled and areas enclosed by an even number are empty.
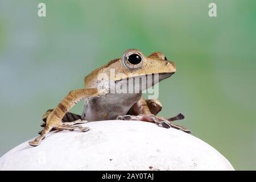
<svg viewBox="0 0 256 182">
<path fill-rule="evenodd" d="M 116 75 L 122 76 L 113 76 L 113 71 L 117 73 Z M 180 113 L 168 119 L 160 117 L 157 114 L 162 110 L 162 104 L 158 98 L 145 100 L 142 95 L 143 90 L 152 88 L 156 83 L 174 75 L 175 72 L 176 65 L 162 52 L 145 56 L 138 49 L 128 49 L 118 59 L 109 61 L 86 76 L 83 89 L 72 90 L 55 109 L 47 110 L 42 117 L 43 130 L 39 132 L 39 137 L 29 144 L 38 146 L 53 130 L 86 132 L 89 130 L 89 127 L 84 126 L 87 122 L 113 119 L 152 122 L 167 129 L 172 127 L 191 133 L 185 127 L 173 123 L 173 121 L 184 119 L 183 114 Z M 151 79 L 150 82 L 134 81 L 138 77 L 146 77 L 147 80 L 150 76 L 154 78 L 157 76 L 158 79 Z M 113 92 L 116 89 L 115 86 L 124 85 L 124 83 L 131 86 L 133 91 L 137 88 L 138 92 Z M 69 112 L 81 100 L 84 100 L 82 114 Z"/>
</svg>

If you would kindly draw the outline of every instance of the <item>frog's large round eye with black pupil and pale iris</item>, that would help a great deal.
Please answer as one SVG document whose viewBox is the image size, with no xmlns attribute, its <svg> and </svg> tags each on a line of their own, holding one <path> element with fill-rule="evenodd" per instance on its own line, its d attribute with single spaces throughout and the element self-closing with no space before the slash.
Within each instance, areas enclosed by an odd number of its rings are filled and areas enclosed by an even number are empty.
<svg viewBox="0 0 256 182">
<path fill-rule="evenodd" d="M 129 69 L 138 69 L 143 64 L 143 56 L 136 51 L 126 52 L 122 57 L 123 64 Z"/>
</svg>

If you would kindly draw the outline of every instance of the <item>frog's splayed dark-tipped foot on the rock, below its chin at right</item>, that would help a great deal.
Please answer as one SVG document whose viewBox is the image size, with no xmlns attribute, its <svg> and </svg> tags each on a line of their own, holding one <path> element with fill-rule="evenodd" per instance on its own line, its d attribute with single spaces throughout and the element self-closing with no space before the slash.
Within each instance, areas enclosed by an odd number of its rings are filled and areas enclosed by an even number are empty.
<svg viewBox="0 0 256 182">
<path fill-rule="evenodd" d="M 183 119 L 184 116 L 182 114 L 176 115 L 176 117 L 169 119 L 164 119 L 163 117 L 156 116 L 154 114 L 139 114 L 139 115 L 118 115 L 117 119 L 121 120 L 134 120 L 134 121 L 146 121 L 146 122 L 155 122 L 156 125 L 162 126 L 165 128 L 173 127 L 177 130 L 184 131 L 185 133 L 191 133 L 190 130 L 185 129 L 182 126 L 174 125 L 171 121 Z"/>
</svg>

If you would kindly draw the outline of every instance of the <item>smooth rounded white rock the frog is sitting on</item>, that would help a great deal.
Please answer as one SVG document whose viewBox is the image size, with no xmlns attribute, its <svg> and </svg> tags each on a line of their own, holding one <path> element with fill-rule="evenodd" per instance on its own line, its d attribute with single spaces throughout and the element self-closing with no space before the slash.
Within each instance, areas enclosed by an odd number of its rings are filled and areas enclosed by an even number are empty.
<svg viewBox="0 0 256 182">
<path fill-rule="evenodd" d="M 98 121 L 79 131 L 51 132 L 0 158 L 0 170 L 234 170 L 202 140 L 141 121 Z"/>
</svg>

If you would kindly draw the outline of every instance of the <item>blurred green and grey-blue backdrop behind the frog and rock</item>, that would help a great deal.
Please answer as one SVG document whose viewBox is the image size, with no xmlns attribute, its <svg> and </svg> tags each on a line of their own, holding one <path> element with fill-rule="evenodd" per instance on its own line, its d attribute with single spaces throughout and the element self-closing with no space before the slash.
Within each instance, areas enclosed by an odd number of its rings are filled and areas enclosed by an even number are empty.
<svg viewBox="0 0 256 182">
<path fill-rule="evenodd" d="M 180 124 L 234 168 L 256 169 L 255 9 L 254 0 L 1 0 L 0 156 L 36 137 L 42 114 L 84 76 L 137 48 L 176 63 L 159 84 L 160 115 L 183 113 Z"/>
</svg>

